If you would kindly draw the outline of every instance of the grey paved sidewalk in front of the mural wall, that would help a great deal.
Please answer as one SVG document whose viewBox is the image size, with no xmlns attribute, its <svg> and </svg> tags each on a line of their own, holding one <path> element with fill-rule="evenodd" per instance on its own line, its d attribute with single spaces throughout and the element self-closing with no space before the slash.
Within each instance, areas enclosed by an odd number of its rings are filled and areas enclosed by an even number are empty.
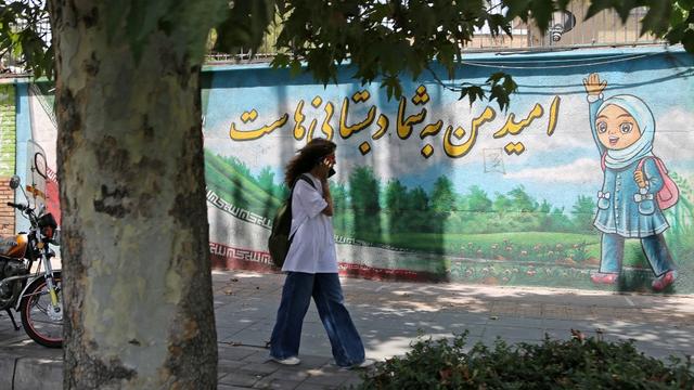
<svg viewBox="0 0 694 390">
<path fill-rule="evenodd" d="M 313 306 L 301 338 L 301 364 L 268 361 L 266 344 L 283 283 L 281 274 L 213 274 L 219 340 L 219 389 L 333 389 L 360 382 L 359 372 L 332 365 L 331 348 Z M 639 350 L 665 358 L 694 354 L 694 297 L 614 295 L 581 290 L 416 284 L 343 278 L 347 307 L 367 356 L 400 355 L 419 335 L 470 330 L 470 343 L 539 342 L 570 329 L 607 340 L 634 339 Z M 60 389 L 62 351 L 33 343 L 0 316 L 0 390 Z M 12 378 L 12 382 L 8 380 Z M 51 388 L 49 385 L 55 385 Z"/>
</svg>

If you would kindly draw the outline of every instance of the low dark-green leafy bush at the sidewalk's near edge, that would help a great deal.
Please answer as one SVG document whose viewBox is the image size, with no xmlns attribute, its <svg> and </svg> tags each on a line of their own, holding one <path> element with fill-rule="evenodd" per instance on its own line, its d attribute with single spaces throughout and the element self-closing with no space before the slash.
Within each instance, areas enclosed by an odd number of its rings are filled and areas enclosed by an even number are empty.
<svg viewBox="0 0 694 390">
<path fill-rule="evenodd" d="M 467 332 L 452 341 L 419 340 L 403 358 L 377 363 L 358 389 L 693 389 L 691 356 L 666 364 L 637 351 L 633 341 L 607 342 L 575 332 L 571 340 L 466 352 Z"/>
</svg>

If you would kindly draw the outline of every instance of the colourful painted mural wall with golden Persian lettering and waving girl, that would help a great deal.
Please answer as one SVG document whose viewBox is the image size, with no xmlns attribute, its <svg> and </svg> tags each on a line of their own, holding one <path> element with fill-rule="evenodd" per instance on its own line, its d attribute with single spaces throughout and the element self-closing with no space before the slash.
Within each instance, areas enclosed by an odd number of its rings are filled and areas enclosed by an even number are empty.
<svg viewBox="0 0 694 390">
<path fill-rule="evenodd" d="M 283 166 L 337 143 L 340 269 L 369 277 L 694 292 L 693 58 L 661 50 L 467 56 L 403 96 L 248 65 L 206 72 L 210 250 L 269 268 Z M 504 70 L 507 110 L 460 100 Z M 463 75 L 465 78 L 463 79 Z M 659 276 L 659 277 L 658 277 Z"/>
</svg>

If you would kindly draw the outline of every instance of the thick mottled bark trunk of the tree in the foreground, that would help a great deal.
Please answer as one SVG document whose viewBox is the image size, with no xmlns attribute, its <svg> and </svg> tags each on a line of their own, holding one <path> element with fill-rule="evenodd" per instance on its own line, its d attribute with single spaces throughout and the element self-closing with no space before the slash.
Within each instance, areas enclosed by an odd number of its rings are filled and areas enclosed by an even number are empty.
<svg viewBox="0 0 694 390">
<path fill-rule="evenodd" d="M 49 3 L 65 389 L 216 388 L 198 64 L 213 2 Z"/>
</svg>

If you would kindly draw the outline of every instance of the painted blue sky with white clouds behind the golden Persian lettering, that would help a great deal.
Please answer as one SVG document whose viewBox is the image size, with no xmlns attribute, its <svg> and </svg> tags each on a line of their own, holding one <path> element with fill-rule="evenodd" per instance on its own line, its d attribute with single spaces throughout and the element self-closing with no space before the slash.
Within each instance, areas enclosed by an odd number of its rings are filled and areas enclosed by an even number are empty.
<svg viewBox="0 0 694 390">
<path fill-rule="evenodd" d="M 398 102 L 388 101 L 385 90 L 378 86 L 361 87 L 349 80 L 348 69 L 338 86 L 314 84 L 308 77 L 288 79 L 285 72 L 270 70 L 265 66 L 234 68 L 228 72 L 209 72 L 213 82 L 205 112 L 205 146 L 221 155 L 235 156 L 252 169 L 271 166 L 279 173 L 293 151 L 305 141 L 292 136 L 294 110 L 299 100 L 305 101 L 305 127 L 312 119 L 320 128 L 326 102 L 335 106 L 331 125 L 337 132 L 339 110 L 344 98 L 368 90 L 371 98 L 365 103 L 350 101 L 348 122 L 367 117 L 368 109 L 376 105 L 377 114 L 386 115 L 389 129 L 386 135 L 372 140 L 377 126 L 374 123 L 348 139 L 335 134 L 338 145 L 337 180 L 346 181 L 355 166 L 369 165 L 383 182 L 397 178 L 408 186 L 430 187 L 441 174 L 448 176 L 464 193 L 472 185 L 484 187 L 488 194 L 505 193 L 523 184 L 539 200 L 547 199 L 555 206 L 570 207 L 579 195 L 593 196 L 602 182 L 600 155 L 593 143 L 588 123 L 588 103 L 581 83 L 590 73 L 599 73 L 607 81 L 605 98 L 629 93 L 641 98 L 656 118 L 655 154 L 664 159 L 670 170 L 692 178 L 694 173 L 694 72 L 691 56 L 681 52 L 670 53 L 660 49 L 624 51 L 581 51 L 581 53 L 471 56 L 461 68 L 465 79 L 458 81 L 484 82 L 490 73 L 503 70 L 514 76 L 519 92 L 512 98 L 506 113 L 496 103 L 489 104 L 497 117 L 479 128 L 475 145 L 460 158 L 445 155 L 444 130 L 451 125 L 461 126 L 470 134 L 471 120 L 477 117 L 487 103 L 470 106 L 467 100 L 459 100 L 460 93 L 448 91 L 424 74 L 417 81 L 404 82 L 408 99 L 406 115 L 420 112 L 410 100 L 417 87 L 427 89 L 429 102 L 425 120 L 414 126 L 407 140 L 396 134 Z M 310 105 L 313 98 L 322 103 Z M 552 100 L 561 98 L 557 125 L 554 133 L 547 134 Z M 525 118 L 536 104 L 544 110 L 530 126 L 517 135 L 493 139 L 510 114 L 516 120 Z M 242 123 L 240 116 L 255 108 L 258 118 Z M 229 136 L 229 127 L 235 122 L 240 129 L 256 129 L 287 113 L 285 126 L 255 141 L 237 142 Z M 444 121 L 444 129 L 434 136 L 422 140 L 419 135 L 425 125 Z M 317 130 L 317 134 L 320 131 Z M 462 141 L 467 140 L 467 135 Z M 362 155 L 359 145 L 369 142 L 371 152 Z M 506 155 L 500 152 L 509 142 L 522 142 L 525 152 Z M 434 154 L 427 159 L 421 155 L 424 145 L 430 144 Z M 490 156 L 501 158 L 503 170 L 491 168 Z M 487 159 L 487 164 L 485 164 Z"/>
</svg>

